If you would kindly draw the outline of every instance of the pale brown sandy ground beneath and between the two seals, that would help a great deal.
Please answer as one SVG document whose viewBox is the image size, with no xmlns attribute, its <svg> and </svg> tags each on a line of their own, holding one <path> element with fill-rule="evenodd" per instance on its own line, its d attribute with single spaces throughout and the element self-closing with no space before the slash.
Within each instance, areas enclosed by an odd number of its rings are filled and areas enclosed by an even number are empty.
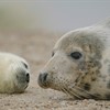
<svg viewBox="0 0 110 110">
<path fill-rule="evenodd" d="M 110 110 L 107 100 L 73 100 L 69 96 L 37 85 L 40 70 L 50 59 L 62 34 L 0 35 L 0 51 L 24 57 L 31 66 L 31 82 L 24 94 L 0 95 L 0 110 Z"/>
</svg>

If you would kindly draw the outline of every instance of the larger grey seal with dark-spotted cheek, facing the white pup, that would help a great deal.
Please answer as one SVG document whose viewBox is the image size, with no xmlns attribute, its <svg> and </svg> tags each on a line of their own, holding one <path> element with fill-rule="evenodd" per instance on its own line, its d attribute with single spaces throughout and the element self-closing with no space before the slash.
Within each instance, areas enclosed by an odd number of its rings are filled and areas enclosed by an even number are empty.
<svg viewBox="0 0 110 110">
<path fill-rule="evenodd" d="M 75 99 L 110 99 L 110 19 L 63 35 L 38 85 Z"/>
</svg>

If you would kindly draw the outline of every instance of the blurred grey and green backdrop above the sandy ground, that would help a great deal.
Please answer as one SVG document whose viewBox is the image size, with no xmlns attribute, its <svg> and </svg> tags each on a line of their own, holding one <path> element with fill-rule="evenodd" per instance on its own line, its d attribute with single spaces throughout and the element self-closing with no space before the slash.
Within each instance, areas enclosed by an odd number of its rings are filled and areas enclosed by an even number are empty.
<svg viewBox="0 0 110 110">
<path fill-rule="evenodd" d="M 67 32 L 110 16 L 109 0 L 0 0 L 0 31 Z"/>
</svg>

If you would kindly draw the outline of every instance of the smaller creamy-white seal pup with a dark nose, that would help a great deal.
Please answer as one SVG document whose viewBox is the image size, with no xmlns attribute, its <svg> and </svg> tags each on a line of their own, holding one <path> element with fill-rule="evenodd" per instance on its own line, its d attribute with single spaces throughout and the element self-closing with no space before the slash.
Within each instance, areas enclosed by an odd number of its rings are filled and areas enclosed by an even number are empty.
<svg viewBox="0 0 110 110">
<path fill-rule="evenodd" d="M 0 53 L 0 94 L 23 92 L 29 81 L 26 61 L 10 53 Z"/>
</svg>

